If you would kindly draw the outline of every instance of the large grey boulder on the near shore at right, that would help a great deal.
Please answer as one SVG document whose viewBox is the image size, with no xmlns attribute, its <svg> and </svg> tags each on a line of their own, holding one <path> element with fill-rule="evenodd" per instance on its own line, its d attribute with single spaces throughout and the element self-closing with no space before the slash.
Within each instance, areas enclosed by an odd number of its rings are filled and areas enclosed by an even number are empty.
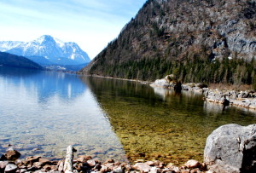
<svg viewBox="0 0 256 173">
<path fill-rule="evenodd" d="M 219 173 L 256 172 L 256 124 L 227 124 L 207 137 L 204 162 Z"/>
</svg>

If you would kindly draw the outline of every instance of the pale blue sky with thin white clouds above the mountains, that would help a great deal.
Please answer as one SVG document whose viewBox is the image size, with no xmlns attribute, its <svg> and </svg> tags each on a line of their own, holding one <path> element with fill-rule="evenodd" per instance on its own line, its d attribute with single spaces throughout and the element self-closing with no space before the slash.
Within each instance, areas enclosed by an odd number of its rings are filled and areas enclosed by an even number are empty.
<svg viewBox="0 0 256 173">
<path fill-rule="evenodd" d="M 146 0 L 1 0 L 0 41 L 51 35 L 75 42 L 94 58 Z"/>
</svg>

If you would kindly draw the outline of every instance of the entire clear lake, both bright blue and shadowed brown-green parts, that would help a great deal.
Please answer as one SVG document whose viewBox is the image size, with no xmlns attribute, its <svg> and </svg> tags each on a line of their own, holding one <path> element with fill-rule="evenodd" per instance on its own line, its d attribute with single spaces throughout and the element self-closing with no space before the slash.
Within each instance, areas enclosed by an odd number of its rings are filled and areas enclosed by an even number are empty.
<svg viewBox="0 0 256 173">
<path fill-rule="evenodd" d="M 0 153 L 64 159 L 77 154 L 116 161 L 203 159 L 212 130 L 255 124 L 255 112 L 222 107 L 202 95 L 148 84 L 0 66 Z"/>
</svg>

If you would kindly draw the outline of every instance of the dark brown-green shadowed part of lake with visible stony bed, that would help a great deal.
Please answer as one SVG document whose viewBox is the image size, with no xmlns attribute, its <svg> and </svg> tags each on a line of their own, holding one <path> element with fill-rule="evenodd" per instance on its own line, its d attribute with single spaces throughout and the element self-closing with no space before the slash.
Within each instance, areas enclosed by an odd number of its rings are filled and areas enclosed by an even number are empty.
<svg viewBox="0 0 256 173">
<path fill-rule="evenodd" d="M 153 89 L 146 84 L 81 77 L 106 112 L 131 162 L 159 159 L 202 161 L 207 136 L 223 124 L 253 124 L 256 117 L 236 107 L 219 107 L 192 92 Z"/>
</svg>

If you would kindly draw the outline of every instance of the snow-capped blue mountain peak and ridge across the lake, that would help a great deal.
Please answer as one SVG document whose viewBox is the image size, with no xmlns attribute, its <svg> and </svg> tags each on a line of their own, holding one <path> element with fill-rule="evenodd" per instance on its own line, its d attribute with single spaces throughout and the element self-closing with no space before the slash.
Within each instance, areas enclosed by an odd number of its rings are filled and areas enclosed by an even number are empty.
<svg viewBox="0 0 256 173">
<path fill-rule="evenodd" d="M 10 49 L 7 49 L 8 46 L 2 45 L 9 45 Z M 14 46 L 12 47 L 12 45 Z M 0 51 L 1 49 L 10 54 L 28 58 L 33 57 L 33 59 L 36 57 L 41 57 L 42 59 L 44 57 L 45 60 L 55 65 L 79 65 L 90 62 L 89 56 L 79 48 L 77 43 L 64 43 L 60 39 L 49 35 L 44 35 L 27 43 L 0 43 Z"/>
</svg>

